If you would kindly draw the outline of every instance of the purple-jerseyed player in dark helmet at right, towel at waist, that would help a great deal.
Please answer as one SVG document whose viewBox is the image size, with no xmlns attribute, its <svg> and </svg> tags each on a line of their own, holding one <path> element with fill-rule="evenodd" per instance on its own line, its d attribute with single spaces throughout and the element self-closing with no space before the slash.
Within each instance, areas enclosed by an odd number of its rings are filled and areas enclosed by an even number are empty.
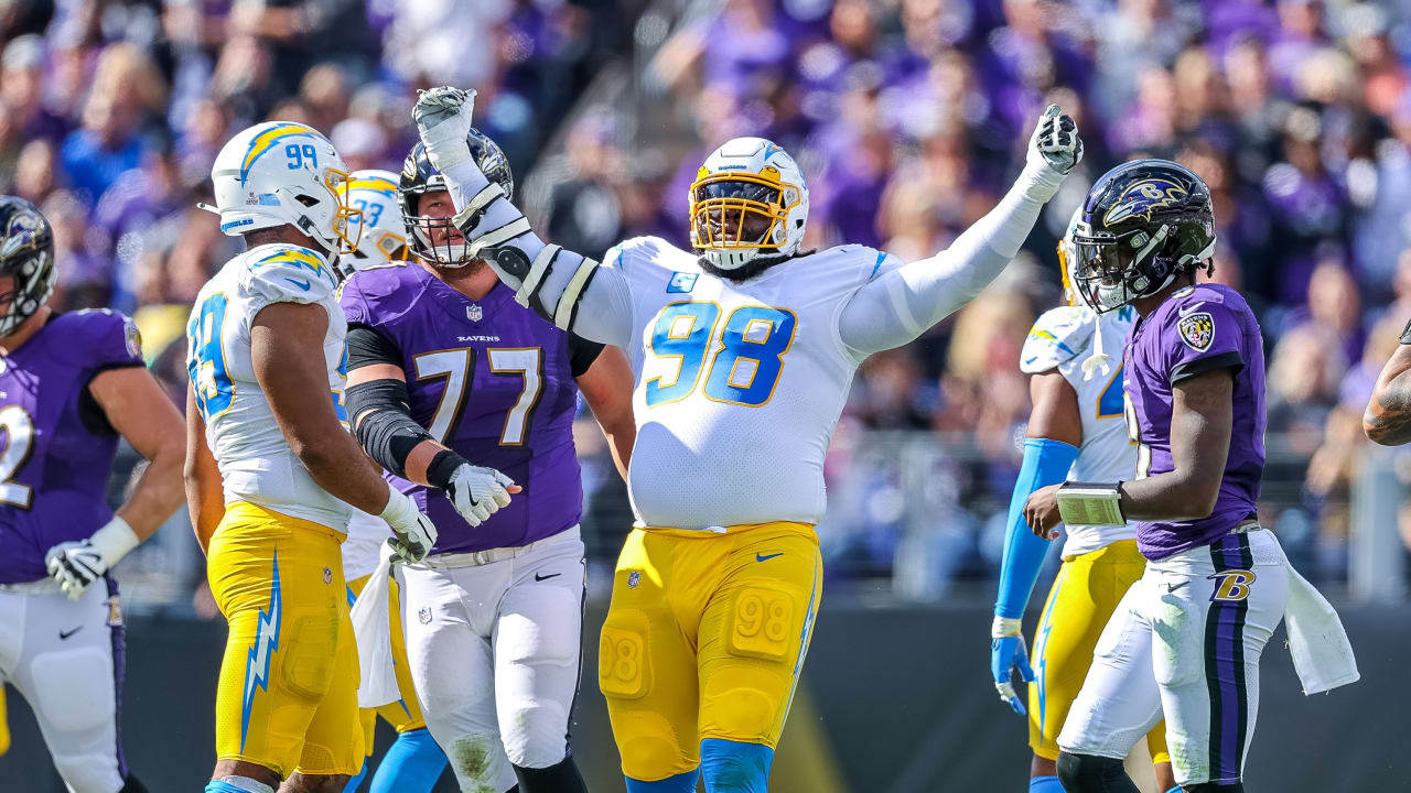
<svg viewBox="0 0 1411 793">
<path fill-rule="evenodd" d="M 1175 162 L 1140 159 L 1098 179 L 1072 241 L 1086 302 L 1137 313 L 1123 356 L 1137 470 L 1130 481 L 1037 490 L 1024 518 L 1048 539 L 1060 519 L 1136 521 L 1147 566 L 1094 649 L 1058 735 L 1058 777 L 1071 793 L 1136 793 L 1122 758 L 1164 714 L 1177 783 L 1188 793 L 1239 792 L 1259 659 L 1285 607 L 1308 604 L 1346 643 L 1336 614 L 1257 522 L 1259 322 L 1235 289 L 1195 282 L 1215 253 L 1211 192 Z M 1308 658 L 1297 646 L 1301 615 L 1290 608 L 1288 617 L 1295 660 Z M 1357 676 L 1350 648 L 1314 666 L 1300 669 L 1307 693 Z"/>
</svg>

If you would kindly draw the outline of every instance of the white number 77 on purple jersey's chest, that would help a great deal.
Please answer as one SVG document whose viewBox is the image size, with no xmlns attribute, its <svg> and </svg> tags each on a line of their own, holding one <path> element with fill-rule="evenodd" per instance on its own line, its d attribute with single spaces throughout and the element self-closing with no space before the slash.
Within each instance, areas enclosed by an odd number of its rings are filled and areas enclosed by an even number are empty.
<svg viewBox="0 0 1411 793">
<path fill-rule="evenodd" d="M 519 399 L 509 409 L 505 426 L 499 432 L 501 446 L 523 446 L 529 436 L 533 409 L 543 395 L 543 347 L 490 347 L 485 356 L 492 375 L 522 377 L 525 381 Z M 444 446 L 474 387 L 476 351 L 470 347 L 437 350 L 422 353 L 412 361 L 416 364 L 418 381 L 446 378 L 446 389 L 442 391 L 436 412 L 432 413 L 432 425 L 426 428 L 436 443 Z"/>
</svg>

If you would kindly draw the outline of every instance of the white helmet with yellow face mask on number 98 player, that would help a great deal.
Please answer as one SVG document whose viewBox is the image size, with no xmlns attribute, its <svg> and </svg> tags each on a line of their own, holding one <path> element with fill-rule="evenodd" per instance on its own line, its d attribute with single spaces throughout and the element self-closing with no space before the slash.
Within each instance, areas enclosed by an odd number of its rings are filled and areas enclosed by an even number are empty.
<svg viewBox="0 0 1411 793">
<path fill-rule="evenodd" d="M 738 270 L 759 255 L 799 253 L 809 185 L 799 164 L 773 143 L 734 138 L 706 158 L 690 205 L 691 246 L 720 270 Z"/>
</svg>

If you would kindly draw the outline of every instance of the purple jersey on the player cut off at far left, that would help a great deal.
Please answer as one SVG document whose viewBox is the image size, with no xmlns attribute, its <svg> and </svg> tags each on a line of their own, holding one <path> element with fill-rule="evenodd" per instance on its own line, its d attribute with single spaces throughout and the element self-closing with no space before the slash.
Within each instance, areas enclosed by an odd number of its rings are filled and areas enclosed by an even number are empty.
<svg viewBox="0 0 1411 793">
<path fill-rule="evenodd" d="M 126 365 L 143 365 L 137 326 L 107 310 L 56 315 L 0 356 L 0 584 L 44 579 L 51 547 L 113 516 L 117 433 L 86 389 Z"/>
</svg>

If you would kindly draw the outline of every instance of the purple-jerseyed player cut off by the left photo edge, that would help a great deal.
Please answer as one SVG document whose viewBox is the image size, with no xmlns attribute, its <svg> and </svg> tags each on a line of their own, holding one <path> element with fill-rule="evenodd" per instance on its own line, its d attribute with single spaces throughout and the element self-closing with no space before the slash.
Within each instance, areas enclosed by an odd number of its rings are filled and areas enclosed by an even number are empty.
<svg viewBox="0 0 1411 793">
<path fill-rule="evenodd" d="M 52 309 L 55 281 L 49 223 L 0 196 L 0 683 L 34 708 L 69 790 L 134 793 L 109 571 L 182 502 L 182 419 L 133 320 Z M 151 464 L 114 514 L 120 436 Z"/>
</svg>

